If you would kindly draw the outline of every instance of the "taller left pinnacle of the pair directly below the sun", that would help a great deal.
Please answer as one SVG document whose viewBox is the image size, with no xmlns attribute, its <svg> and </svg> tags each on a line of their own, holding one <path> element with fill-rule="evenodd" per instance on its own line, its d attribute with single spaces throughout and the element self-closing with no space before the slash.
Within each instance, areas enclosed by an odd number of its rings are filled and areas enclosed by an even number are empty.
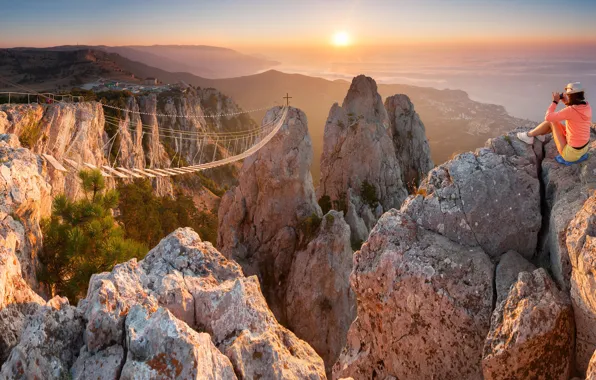
<svg viewBox="0 0 596 380">
<path fill-rule="evenodd" d="M 381 214 L 407 196 L 389 128 L 377 84 L 364 75 L 353 79 L 342 106 L 329 111 L 317 197 L 328 196 L 346 213 L 353 242 L 366 240 Z M 369 194 L 362 191 L 365 181 Z"/>
</svg>

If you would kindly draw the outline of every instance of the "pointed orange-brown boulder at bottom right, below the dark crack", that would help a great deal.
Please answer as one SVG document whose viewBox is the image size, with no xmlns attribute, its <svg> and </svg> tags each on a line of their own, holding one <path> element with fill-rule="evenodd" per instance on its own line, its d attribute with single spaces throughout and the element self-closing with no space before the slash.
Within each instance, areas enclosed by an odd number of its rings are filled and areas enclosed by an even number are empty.
<svg viewBox="0 0 596 380">
<path fill-rule="evenodd" d="M 485 379 L 569 379 L 573 368 L 569 297 L 542 268 L 521 272 L 493 313 L 482 368 Z"/>
</svg>

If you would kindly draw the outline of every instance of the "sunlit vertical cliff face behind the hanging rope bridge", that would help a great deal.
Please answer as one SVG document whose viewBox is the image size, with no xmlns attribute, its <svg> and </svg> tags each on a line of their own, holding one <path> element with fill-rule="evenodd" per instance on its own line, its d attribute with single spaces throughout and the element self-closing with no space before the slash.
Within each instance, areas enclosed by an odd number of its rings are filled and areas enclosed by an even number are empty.
<svg viewBox="0 0 596 380">
<path fill-rule="evenodd" d="M 207 154 L 213 157 L 213 144 L 190 138 L 188 133 L 241 131 L 255 126 L 247 115 L 208 117 L 240 111 L 230 98 L 214 89 L 98 96 L 105 104 L 119 109 L 104 108 L 97 102 L 1 105 L 0 133 L 16 134 L 25 147 L 38 154 L 50 154 L 61 162 L 68 158 L 79 165 L 163 168 L 198 163 L 200 148 L 207 152 L 203 162 Z M 218 157 L 223 154 L 222 149 L 217 148 Z M 223 187 L 235 183 L 236 170 L 232 165 L 227 171 L 212 170 L 206 175 L 215 176 Z M 47 172 L 53 194 L 80 196 L 76 176 L 51 166 Z M 200 187 L 200 181 L 195 182 Z M 153 185 L 158 194 L 173 193 L 169 179 L 156 178 Z"/>
</svg>

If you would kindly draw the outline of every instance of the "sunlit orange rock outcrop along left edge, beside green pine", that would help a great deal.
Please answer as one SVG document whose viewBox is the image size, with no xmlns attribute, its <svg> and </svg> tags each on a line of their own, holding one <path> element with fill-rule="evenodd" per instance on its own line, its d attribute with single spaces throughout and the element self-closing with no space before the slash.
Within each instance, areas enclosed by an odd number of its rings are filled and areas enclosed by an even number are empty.
<svg viewBox="0 0 596 380">
<path fill-rule="evenodd" d="M 45 301 L 36 279 L 50 186 L 37 156 L 15 135 L 0 135 L 0 364 L 18 343 L 27 317 Z"/>
</svg>

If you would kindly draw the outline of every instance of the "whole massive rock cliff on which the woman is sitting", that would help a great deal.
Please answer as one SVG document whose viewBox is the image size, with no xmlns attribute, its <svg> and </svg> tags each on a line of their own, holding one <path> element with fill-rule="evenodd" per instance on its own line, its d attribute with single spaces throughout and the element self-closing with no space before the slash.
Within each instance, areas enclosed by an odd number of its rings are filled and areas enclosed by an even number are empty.
<svg viewBox="0 0 596 380">
<path fill-rule="evenodd" d="M 596 348 L 590 144 L 588 161 L 564 167 L 552 141 L 510 133 L 431 170 L 355 253 L 358 318 L 334 378 L 584 374 Z"/>
</svg>

